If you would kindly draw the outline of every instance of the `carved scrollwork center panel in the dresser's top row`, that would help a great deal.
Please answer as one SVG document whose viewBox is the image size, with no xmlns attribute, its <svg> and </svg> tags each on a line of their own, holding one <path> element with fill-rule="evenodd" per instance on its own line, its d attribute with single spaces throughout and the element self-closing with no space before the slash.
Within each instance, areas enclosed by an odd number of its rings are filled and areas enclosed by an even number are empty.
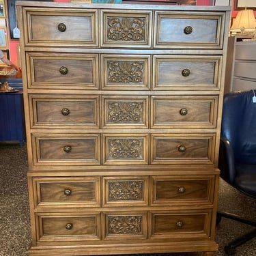
<svg viewBox="0 0 256 256">
<path fill-rule="evenodd" d="M 115 48 L 150 48 L 151 11 L 101 10 L 101 46 Z"/>
</svg>

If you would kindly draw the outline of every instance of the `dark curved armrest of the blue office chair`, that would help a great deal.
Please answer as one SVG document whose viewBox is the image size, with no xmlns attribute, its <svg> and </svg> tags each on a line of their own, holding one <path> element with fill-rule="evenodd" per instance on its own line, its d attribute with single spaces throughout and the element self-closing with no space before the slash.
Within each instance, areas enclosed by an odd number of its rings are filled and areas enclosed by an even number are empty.
<svg viewBox="0 0 256 256">
<path fill-rule="evenodd" d="M 218 156 L 218 169 L 221 170 L 221 177 L 229 184 L 233 184 L 235 178 L 235 158 L 230 141 L 221 137 L 220 151 Z"/>
</svg>

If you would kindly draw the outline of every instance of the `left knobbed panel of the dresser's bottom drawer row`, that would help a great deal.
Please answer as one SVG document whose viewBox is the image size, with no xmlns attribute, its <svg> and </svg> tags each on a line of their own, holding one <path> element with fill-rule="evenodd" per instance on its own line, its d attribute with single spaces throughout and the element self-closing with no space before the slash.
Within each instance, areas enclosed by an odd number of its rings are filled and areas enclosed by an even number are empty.
<svg viewBox="0 0 256 256">
<path fill-rule="evenodd" d="M 37 213 L 38 242 L 100 240 L 100 214 Z"/>
</svg>

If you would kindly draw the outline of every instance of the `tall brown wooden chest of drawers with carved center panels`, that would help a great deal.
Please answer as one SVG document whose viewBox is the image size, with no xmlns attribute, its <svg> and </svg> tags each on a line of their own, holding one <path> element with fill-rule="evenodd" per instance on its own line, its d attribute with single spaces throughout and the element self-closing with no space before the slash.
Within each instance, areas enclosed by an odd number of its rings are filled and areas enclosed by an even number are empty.
<svg viewBox="0 0 256 256">
<path fill-rule="evenodd" d="M 213 255 L 229 8 L 17 12 L 29 255 Z"/>
</svg>

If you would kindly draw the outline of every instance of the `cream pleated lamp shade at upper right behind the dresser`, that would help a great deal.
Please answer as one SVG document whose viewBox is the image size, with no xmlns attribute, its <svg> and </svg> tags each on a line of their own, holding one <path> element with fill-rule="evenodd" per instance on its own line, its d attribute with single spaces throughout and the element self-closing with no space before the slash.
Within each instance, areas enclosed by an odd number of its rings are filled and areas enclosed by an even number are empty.
<svg viewBox="0 0 256 256">
<path fill-rule="evenodd" d="M 238 15 L 236 16 L 230 31 L 255 31 L 255 27 L 256 20 L 253 14 L 253 10 L 241 10 L 238 12 Z"/>
</svg>

